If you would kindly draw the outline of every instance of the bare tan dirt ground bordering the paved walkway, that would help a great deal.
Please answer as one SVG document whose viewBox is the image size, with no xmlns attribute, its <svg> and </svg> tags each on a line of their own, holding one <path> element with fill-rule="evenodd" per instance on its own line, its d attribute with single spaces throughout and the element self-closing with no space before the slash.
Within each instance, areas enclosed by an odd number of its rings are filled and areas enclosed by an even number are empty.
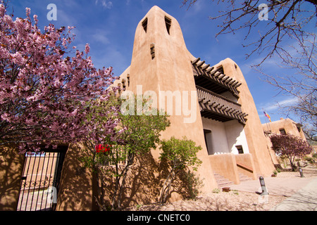
<svg viewBox="0 0 317 225">
<path fill-rule="evenodd" d="M 317 177 L 317 170 L 306 171 L 305 177 Z M 298 172 L 280 172 L 281 179 L 299 176 Z M 195 200 L 179 200 L 174 203 L 137 205 L 128 207 L 129 211 L 267 211 L 282 203 L 285 195 L 265 195 L 247 191 L 231 190 L 223 192 L 220 189 L 212 193 L 198 195 Z"/>
</svg>

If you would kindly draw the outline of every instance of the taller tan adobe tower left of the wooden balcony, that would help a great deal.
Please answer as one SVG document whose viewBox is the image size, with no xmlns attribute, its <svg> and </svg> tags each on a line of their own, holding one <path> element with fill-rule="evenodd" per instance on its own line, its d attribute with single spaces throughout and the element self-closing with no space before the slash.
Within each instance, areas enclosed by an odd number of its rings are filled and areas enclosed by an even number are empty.
<svg viewBox="0 0 317 225">
<path fill-rule="evenodd" d="M 164 18 L 171 20 L 170 34 L 166 31 Z M 142 21 L 147 18 L 147 32 L 144 32 Z M 151 44 L 154 44 L 155 58 L 151 57 Z M 191 57 L 185 46 L 182 31 L 178 21 L 168 15 L 161 8 L 154 6 L 137 25 L 135 42 L 133 46 L 130 66 L 130 87 L 134 93 L 137 85 L 142 85 L 145 91 L 155 91 L 160 98 L 160 91 L 196 91 L 192 73 Z M 197 97 L 194 99 L 197 103 Z M 190 96 L 189 96 L 190 101 Z M 167 105 L 164 105 L 167 108 Z M 175 104 L 174 104 L 175 106 Z M 208 153 L 204 143 L 204 130 L 202 127 L 199 107 L 194 112 L 197 115 L 193 123 L 185 123 L 184 115 L 170 116 L 171 125 L 163 131 L 162 139 L 170 136 L 181 138 L 187 136 L 201 146 L 199 158 L 203 161 L 198 174 L 204 178 L 204 191 L 217 187 L 213 177 Z M 159 151 L 152 152 L 154 159 L 158 160 Z"/>
</svg>

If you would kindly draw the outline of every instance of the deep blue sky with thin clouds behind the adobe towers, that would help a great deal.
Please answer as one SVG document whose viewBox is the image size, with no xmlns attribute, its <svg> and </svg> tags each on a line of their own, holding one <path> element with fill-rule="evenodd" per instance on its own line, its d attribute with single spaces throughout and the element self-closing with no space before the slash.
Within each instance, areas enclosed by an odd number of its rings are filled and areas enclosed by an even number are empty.
<svg viewBox="0 0 317 225">
<path fill-rule="evenodd" d="M 46 7 L 49 4 L 56 4 L 56 21 L 47 20 L 49 10 Z M 223 34 L 215 38 L 220 21 L 209 20 L 209 16 L 217 15 L 223 8 L 214 6 L 209 0 L 197 1 L 188 11 L 186 6 L 181 7 L 182 0 L 11 0 L 8 11 L 11 12 L 13 7 L 14 18 L 25 18 L 25 8 L 31 8 L 31 15 L 38 15 L 41 30 L 49 23 L 56 27 L 75 26 L 73 45 L 84 51 L 85 44 L 89 43 L 89 55 L 92 56 L 95 67 L 112 66 L 114 74 L 120 75 L 130 65 L 137 24 L 154 5 L 178 20 L 187 49 L 193 56 L 200 57 L 211 65 L 225 58 L 235 60 L 247 80 L 262 123 L 268 121 L 262 109 L 266 110 L 272 121 L 286 117 L 278 110 L 276 103 L 291 103 L 294 98 L 276 96 L 278 91 L 263 82 L 260 75 L 250 69 L 250 65 L 259 62 L 261 56 L 254 55 L 246 60 L 245 54 L 251 49 L 242 47 L 244 32 Z M 266 25 L 265 20 L 261 23 L 263 27 Z M 253 38 L 257 37 L 250 37 Z M 282 70 L 275 62 L 274 58 L 268 60 L 263 64 L 264 70 L 279 75 L 290 72 Z"/>
</svg>

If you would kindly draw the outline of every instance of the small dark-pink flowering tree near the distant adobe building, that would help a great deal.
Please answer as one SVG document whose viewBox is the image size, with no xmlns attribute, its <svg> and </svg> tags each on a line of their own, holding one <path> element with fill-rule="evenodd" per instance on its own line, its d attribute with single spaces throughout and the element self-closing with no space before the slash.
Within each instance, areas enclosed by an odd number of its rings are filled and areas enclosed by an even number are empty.
<svg viewBox="0 0 317 225">
<path fill-rule="evenodd" d="M 295 158 L 304 158 L 313 150 L 307 141 L 292 134 L 273 134 L 270 139 L 272 149 L 280 155 L 285 155 L 290 160 L 292 170 L 294 170 Z"/>
</svg>

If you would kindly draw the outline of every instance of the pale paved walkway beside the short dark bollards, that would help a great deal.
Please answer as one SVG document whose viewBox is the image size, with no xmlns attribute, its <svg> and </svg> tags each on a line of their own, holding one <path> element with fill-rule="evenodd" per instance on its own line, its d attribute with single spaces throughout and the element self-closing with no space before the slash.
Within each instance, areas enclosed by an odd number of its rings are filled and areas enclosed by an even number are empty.
<svg viewBox="0 0 317 225">
<path fill-rule="evenodd" d="M 285 172 L 277 177 L 264 177 L 269 195 L 283 195 L 285 201 L 274 207 L 273 211 L 317 211 L 317 170 L 304 171 L 304 177 L 299 173 Z M 306 174 L 306 176 L 305 176 Z M 231 190 L 261 193 L 258 180 L 243 181 L 240 184 L 230 185 Z"/>
</svg>

